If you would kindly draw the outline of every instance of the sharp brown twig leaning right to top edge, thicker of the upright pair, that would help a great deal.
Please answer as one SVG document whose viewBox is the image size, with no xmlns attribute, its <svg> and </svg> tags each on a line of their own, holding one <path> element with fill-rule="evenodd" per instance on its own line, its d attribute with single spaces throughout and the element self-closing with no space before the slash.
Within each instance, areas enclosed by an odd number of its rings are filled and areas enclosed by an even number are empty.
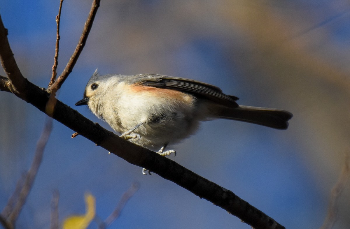
<svg viewBox="0 0 350 229">
<path fill-rule="evenodd" d="M 75 50 L 73 52 L 73 55 L 70 57 L 67 65 L 64 68 L 63 72 L 61 73 L 61 75 L 57 78 L 55 83 L 52 84 L 48 88 L 48 92 L 49 93 L 51 93 L 52 91 L 57 91 L 59 88 L 61 88 L 61 86 L 64 83 L 64 81 L 66 80 L 66 78 L 72 72 L 75 63 L 77 62 L 78 57 L 79 57 L 80 53 L 82 52 L 82 50 L 83 50 L 83 48 L 85 46 L 87 36 L 90 33 L 90 30 L 91 30 L 91 27 L 92 27 L 92 23 L 93 23 L 93 20 L 94 20 L 94 18 L 96 16 L 97 9 L 98 9 L 99 6 L 100 6 L 100 0 L 94 0 L 92 2 L 90 13 L 89 13 L 89 16 L 87 17 L 87 20 L 85 22 L 83 33 L 80 36 L 79 42 L 77 44 L 77 47 L 75 48 Z"/>
</svg>

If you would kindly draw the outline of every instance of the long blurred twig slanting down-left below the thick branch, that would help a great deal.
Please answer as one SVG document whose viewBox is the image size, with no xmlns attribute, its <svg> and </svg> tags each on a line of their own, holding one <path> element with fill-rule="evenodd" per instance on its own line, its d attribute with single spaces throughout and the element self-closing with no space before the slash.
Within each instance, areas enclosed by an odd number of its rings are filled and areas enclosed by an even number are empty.
<svg viewBox="0 0 350 229">
<path fill-rule="evenodd" d="M 19 194 L 19 198 L 16 201 L 16 204 L 13 208 L 13 211 L 11 212 L 10 216 L 8 217 L 8 221 L 12 224 L 15 223 L 16 219 L 18 218 L 18 216 L 22 210 L 23 205 L 26 203 L 28 194 L 30 192 L 31 187 L 33 186 L 36 174 L 37 174 L 39 166 L 41 164 L 43 152 L 44 152 L 46 143 L 49 139 L 51 130 L 52 130 L 52 119 L 47 117 L 44 129 L 43 129 L 41 136 L 38 140 L 38 143 L 36 145 L 34 159 L 33 159 L 33 162 L 31 163 L 30 169 L 27 173 L 25 183 L 21 189 L 21 192 Z"/>
</svg>

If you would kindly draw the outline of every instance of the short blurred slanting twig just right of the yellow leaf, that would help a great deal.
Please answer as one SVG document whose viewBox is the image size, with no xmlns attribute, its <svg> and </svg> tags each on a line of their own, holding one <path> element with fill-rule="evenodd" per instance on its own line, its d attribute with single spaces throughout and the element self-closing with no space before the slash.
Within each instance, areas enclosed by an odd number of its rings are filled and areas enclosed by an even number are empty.
<svg viewBox="0 0 350 229">
<path fill-rule="evenodd" d="M 139 190 L 139 187 L 140 184 L 138 182 L 134 182 L 130 186 L 130 188 L 123 194 L 123 196 L 121 196 L 116 209 L 114 209 L 114 211 L 107 217 L 107 219 L 104 222 L 99 224 L 98 229 L 105 229 L 109 227 L 114 222 L 114 220 L 118 219 L 121 210 L 123 210 L 126 203 L 135 194 L 135 192 Z"/>
</svg>

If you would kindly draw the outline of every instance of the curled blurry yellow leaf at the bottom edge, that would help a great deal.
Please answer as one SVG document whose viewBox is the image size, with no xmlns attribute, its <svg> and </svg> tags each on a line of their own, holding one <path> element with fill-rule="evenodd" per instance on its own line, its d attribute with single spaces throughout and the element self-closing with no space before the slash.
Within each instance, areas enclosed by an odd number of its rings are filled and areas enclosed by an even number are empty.
<svg viewBox="0 0 350 229">
<path fill-rule="evenodd" d="M 95 217 L 96 199 L 90 193 L 85 193 L 85 215 L 72 215 L 63 222 L 63 229 L 86 229 Z"/>
</svg>

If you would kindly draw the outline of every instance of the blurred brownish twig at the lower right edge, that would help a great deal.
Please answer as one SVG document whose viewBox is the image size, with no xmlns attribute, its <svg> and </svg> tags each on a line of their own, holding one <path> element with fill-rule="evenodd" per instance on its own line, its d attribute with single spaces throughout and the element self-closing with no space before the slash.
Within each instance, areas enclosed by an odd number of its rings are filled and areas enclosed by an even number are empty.
<svg viewBox="0 0 350 229">
<path fill-rule="evenodd" d="M 342 194 L 346 181 L 350 176 L 350 150 L 345 149 L 344 166 L 339 174 L 337 183 L 332 188 L 328 205 L 327 216 L 320 229 L 331 229 L 337 220 L 339 197 Z"/>
</svg>

